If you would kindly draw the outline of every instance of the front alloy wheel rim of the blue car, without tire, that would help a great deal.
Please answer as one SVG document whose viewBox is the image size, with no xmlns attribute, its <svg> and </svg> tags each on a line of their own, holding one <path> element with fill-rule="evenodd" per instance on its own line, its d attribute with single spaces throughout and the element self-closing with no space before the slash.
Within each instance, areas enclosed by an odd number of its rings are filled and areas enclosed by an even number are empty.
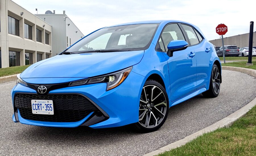
<svg viewBox="0 0 256 156">
<path fill-rule="evenodd" d="M 146 85 L 142 89 L 139 106 L 139 124 L 146 128 L 159 125 L 167 110 L 164 92 L 155 85 Z"/>
</svg>

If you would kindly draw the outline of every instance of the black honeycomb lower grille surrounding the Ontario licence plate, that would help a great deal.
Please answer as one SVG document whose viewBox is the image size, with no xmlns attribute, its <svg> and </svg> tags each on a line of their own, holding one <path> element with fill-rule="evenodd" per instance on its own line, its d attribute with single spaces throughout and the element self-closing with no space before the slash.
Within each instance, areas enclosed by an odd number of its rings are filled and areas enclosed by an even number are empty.
<svg viewBox="0 0 256 156">
<path fill-rule="evenodd" d="M 53 100 L 54 115 L 33 114 L 31 100 Z M 99 109 L 87 98 L 79 94 L 37 94 L 17 93 L 14 106 L 24 119 L 50 122 L 76 122 L 84 119 L 92 111 Z"/>
</svg>

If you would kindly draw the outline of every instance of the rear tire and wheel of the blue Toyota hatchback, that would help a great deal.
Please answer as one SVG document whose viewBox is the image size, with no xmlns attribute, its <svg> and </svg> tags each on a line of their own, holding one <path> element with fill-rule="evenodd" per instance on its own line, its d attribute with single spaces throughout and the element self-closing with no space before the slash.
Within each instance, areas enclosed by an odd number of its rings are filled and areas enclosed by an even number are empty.
<svg viewBox="0 0 256 156">
<path fill-rule="evenodd" d="M 210 77 L 209 90 L 203 92 L 202 94 L 207 98 L 215 98 L 219 95 L 219 93 L 220 93 L 220 72 L 219 72 L 218 66 L 216 64 L 213 64 L 211 77 Z"/>
</svg>

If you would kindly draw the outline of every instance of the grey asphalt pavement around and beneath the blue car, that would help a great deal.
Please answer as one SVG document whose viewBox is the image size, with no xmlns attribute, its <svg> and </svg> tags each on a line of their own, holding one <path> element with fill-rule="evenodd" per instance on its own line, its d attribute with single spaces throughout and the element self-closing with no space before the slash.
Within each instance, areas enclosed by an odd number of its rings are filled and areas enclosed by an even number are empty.
<svg viewBox="0 0 256 156">
<path fill-rule="evenodd" d="M 143 155 L 180 140 L 240 109 L 256 96 L 256 79 L 223 71 L 217 98 L 196 96 L 170 108 L 156 132 L 140 134 L 130 126 L 90 129 L 37 127 L 13 123 L 11 89 L 0 84 L 0 155 Z"/>
</svg>

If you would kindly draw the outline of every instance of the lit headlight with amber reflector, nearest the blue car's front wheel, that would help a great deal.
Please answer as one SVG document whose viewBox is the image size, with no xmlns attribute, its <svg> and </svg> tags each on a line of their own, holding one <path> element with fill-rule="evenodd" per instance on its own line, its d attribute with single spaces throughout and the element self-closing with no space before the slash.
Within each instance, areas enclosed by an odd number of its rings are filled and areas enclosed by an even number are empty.
<svg viewBox="0 0 256 156">
<path fill-rule="evenodd" d="M 107 83 L 107 90 L 110 90 L 119 86 L 126 79 L 132 69 L 133 67 L 129 67 L 115 73 L 110 73 L 108 75 L 74 81 L 71 82 L 69 86 L 87 85 L 93 83 Z"/>
</svg>

